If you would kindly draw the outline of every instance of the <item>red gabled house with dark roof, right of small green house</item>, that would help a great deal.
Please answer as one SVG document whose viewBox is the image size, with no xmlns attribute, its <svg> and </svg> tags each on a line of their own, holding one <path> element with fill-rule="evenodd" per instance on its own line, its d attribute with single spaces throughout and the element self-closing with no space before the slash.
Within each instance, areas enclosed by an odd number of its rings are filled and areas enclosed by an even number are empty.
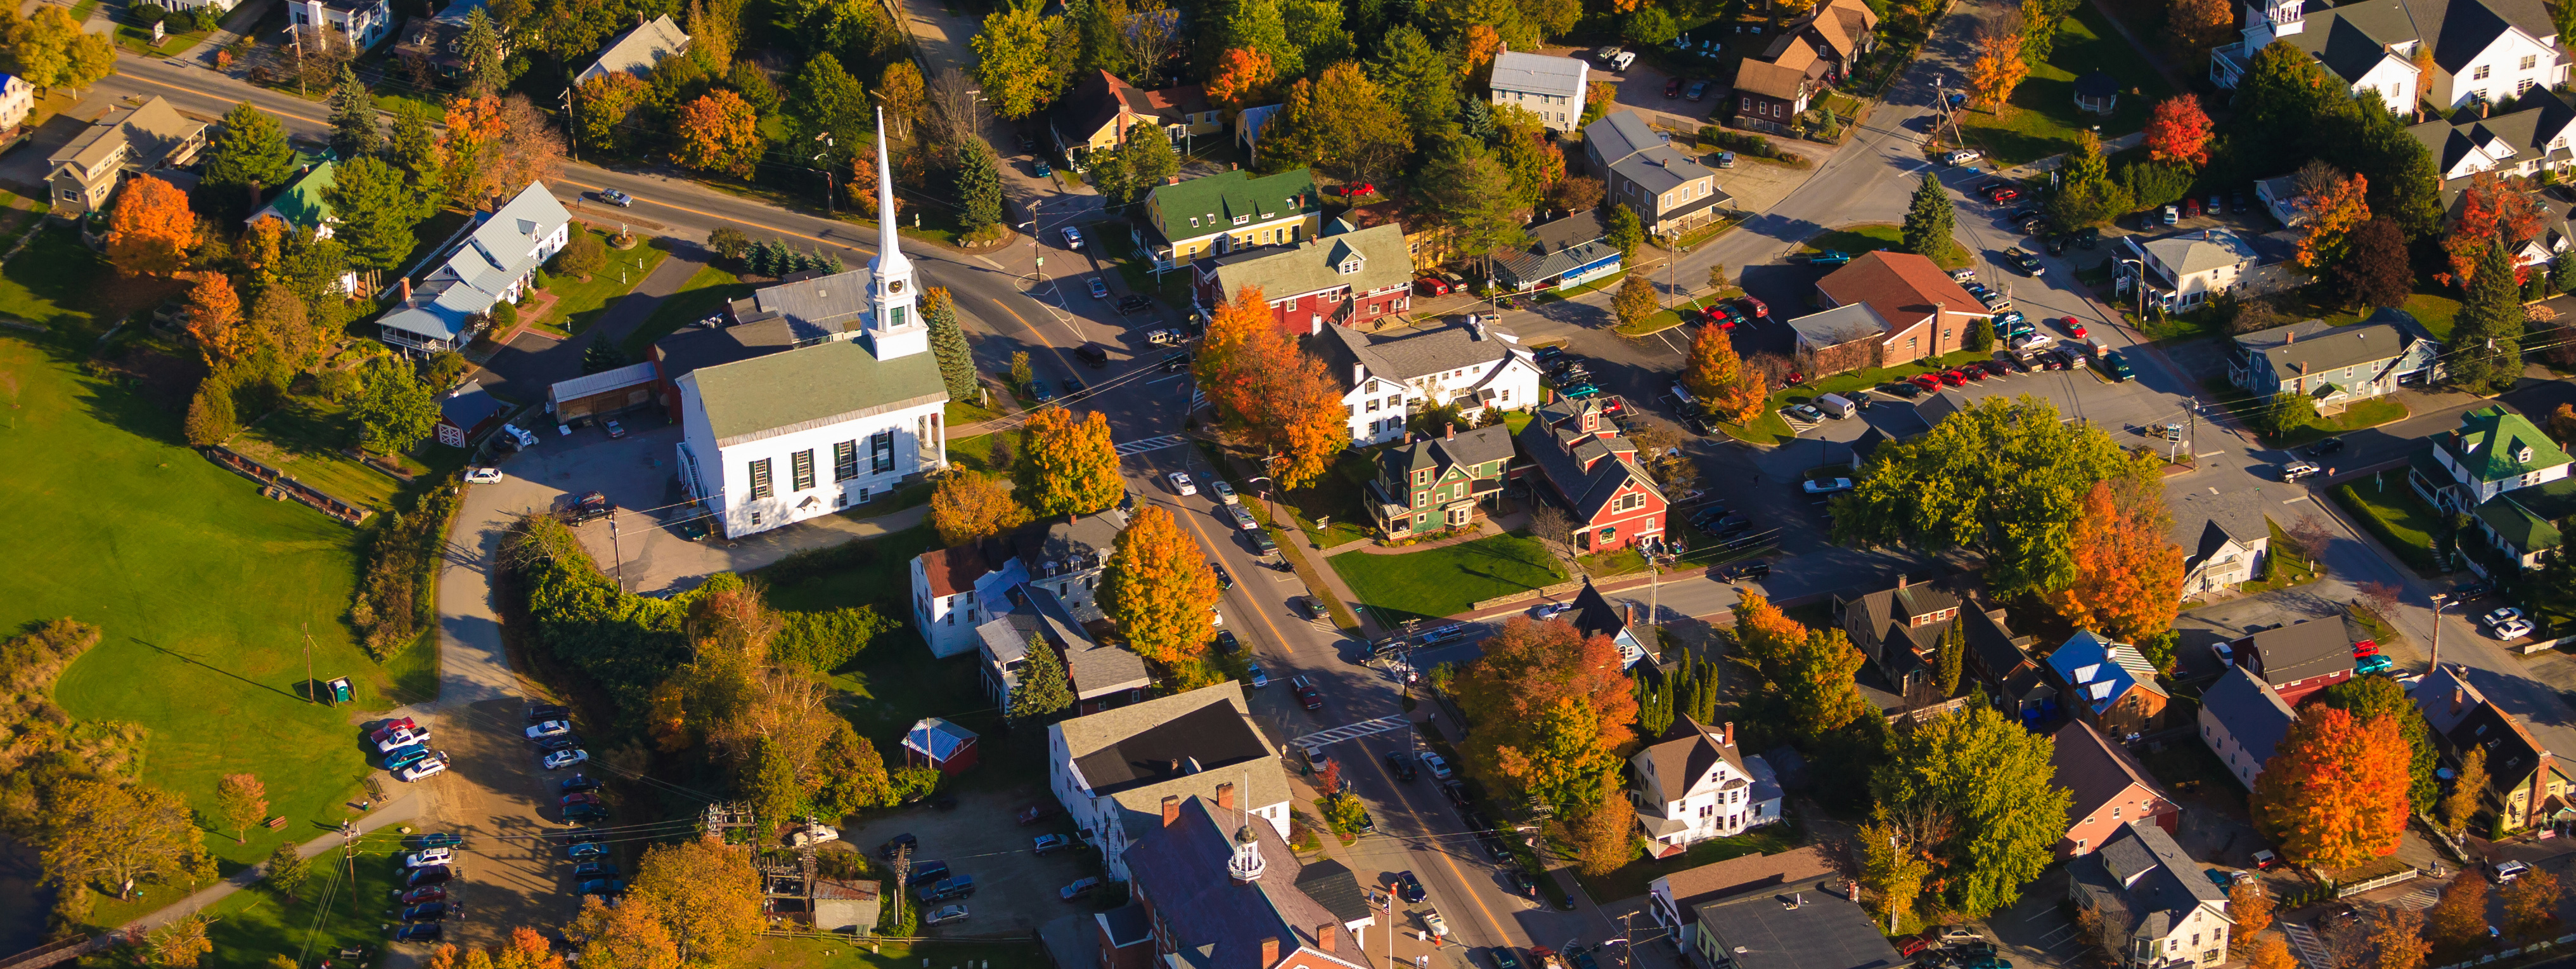
<svg viewBox="0 0 2576 969">
<path fill-rule="evenodd" d="M 1520 454 L 1577 523 L 1574 549 L 1613 552 L 1664 539 L 1664 490 L 1636 464 L 1597 399 L 1558 399 L 1520 428 Z"/>
</svg>

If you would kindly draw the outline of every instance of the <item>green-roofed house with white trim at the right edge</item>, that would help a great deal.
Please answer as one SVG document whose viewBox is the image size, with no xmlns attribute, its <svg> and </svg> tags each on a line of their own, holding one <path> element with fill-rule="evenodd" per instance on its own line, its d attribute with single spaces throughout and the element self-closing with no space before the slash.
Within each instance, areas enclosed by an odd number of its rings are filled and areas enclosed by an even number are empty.
<svg viewBox="0 0 2576 969">
<path fill-rule="evenodd" d="M 2571 466 L 2576 459 L 2530 417 L 2478 407 L 2460 415 L 2458 430 L 2409 459 L 2406 484 L 2445 515 L 2468 513 L 2488 546 L 2517 570 L 2530 570 L 2561 546 L 2568 518 L 2576 518 Z M 2468 564 L 2481 575 L 2491 567 L 2481 554 L 2468 554 Z"/>
</svg>

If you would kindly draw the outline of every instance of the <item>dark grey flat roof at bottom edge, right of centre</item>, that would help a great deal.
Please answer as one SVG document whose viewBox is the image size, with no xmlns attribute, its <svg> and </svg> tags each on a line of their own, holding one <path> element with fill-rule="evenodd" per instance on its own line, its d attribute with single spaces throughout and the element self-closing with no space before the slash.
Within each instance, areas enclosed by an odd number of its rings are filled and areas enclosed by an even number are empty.
<svg viewBox="0 0 2576 969">
<path fill-rule="evenodd" d="M 1832 881 L 1744 894 L 1692 910 L 1736 969 L 1906 966 L 1870 912 L 1832 892 Z"/>
</svg>

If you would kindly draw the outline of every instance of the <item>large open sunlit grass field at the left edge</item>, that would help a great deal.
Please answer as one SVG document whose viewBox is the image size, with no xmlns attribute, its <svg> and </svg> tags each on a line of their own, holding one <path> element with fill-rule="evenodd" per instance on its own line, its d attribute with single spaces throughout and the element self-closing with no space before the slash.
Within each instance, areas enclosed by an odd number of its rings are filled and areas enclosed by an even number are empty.
<svg viewBox="0 0 2576 969">
<path fill-rule="evenodd" d="M 41 296 L 0 278 L 0 302 Z M 57 281 L 82 286 L 93 276 Z M 18 549 L 54 549 L 44 567 L 0 575 L 0 629 L 72 616 L 106 639 L 54 686 L 80 719 L 142 724 L 142 778 L 214 812 L 224 773 L 268 783 L 286 832 L 252 830 L 247 845 L 209 838 L 227 871 L 265 858 L 289 832 L 337 822 L 368 773 L 353 722 L 392 706 L 394 673 L 376 667 L 340 616 L 358 572 L 358 531 L 312 508 L 258 497 L 180 443 L 178 415 L 77 374 L 88 350 L 0 335 L 0 503 L 18 513 Z M 317 678 L 348 675 L 358 704 L 299 696 L 304 639 Z M 417 660 L 428 662 L 428 660 Z M 214 729 L 209 729 L 214 727 Z"/>
</svg>

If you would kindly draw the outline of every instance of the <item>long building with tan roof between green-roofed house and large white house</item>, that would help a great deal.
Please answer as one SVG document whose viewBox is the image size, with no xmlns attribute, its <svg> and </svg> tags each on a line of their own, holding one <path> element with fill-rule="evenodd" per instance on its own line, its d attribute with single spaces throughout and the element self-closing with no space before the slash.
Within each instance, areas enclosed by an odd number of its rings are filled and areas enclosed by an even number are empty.
<svg viewBox="0 0 2576 969">
<path fill-rule="evenodd" d="M 1244 286 L 1260 289 L 1280 330 L 1324 332 L 1324 325 L 1365 327 L 1412 307 L 1414 255 L 1401 224 L 1352 229 L 1324 224 L 1324 235 L 1298 245 L 1234 250 L 1190 265 L 1193 299 L 1216 312 Z"/>
</svg>

